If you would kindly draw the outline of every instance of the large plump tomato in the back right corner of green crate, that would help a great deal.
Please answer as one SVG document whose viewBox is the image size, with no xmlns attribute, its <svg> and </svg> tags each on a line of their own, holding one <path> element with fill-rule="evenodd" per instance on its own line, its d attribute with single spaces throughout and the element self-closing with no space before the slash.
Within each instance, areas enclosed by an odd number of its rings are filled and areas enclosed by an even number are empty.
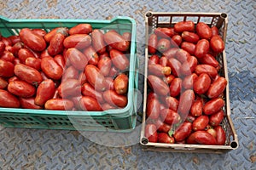
<svg viewBox="0 0 256 170">
<path fill-rule="evenodd" d="M 119 51 L 125 52 L 130 46 L 130 42 L 115 31 L 108 31 L 103 37 L 107 45 Z"/>
</svg>

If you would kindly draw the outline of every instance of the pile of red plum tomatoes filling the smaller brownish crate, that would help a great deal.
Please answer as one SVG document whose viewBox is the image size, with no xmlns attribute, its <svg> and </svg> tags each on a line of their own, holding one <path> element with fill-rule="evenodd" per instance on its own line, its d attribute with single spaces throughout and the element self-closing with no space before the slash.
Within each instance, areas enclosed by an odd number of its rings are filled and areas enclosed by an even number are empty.
<svg viewBox="0 0 256 170">
<path fill-rule="evenodd" d="M 168 144 L 225 144 L 224 90 L 216 26 L 191 20 L 158 27 L 148 37 L 145 136 Z"/>
</svg>

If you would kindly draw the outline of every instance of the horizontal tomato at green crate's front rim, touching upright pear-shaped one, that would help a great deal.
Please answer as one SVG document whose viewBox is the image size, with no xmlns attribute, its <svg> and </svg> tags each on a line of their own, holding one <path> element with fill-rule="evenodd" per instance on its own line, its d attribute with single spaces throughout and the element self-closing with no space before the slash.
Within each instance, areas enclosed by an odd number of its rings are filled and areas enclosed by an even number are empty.
<svg viewBox="0 0 256 170">
<path fill-rule="evenodd" d="M 44 104 L 46 110 L 70 111 L 73 109 L 73 101 L 70 99 L 49 99 Z"/>
</svg>

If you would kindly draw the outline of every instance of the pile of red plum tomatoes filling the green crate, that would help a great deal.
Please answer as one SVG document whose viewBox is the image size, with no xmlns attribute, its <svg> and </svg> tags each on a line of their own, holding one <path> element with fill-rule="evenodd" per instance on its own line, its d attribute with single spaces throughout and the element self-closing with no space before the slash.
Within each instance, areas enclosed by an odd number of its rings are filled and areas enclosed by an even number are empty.
<svg viewBox="0 0 256 170">
<path fill-rule="evenodd" d="M 0 107 L 106 111 L 127 105 L 131 32 L 23 28 L 0 36 Z"/>
</svg>

